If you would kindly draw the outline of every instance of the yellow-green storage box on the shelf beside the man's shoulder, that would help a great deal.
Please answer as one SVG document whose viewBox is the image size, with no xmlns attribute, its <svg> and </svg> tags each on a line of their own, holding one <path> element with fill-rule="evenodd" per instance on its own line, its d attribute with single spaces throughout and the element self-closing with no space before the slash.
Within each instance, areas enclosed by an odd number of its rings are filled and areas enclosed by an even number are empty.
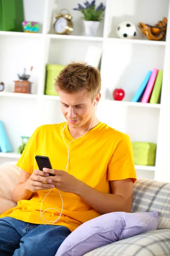
<svg viewBox="0 0 170 256">
<path fill-rule="evenodd" d="M 134 164 L 155 166 L 156 144 L 147 142 L 133 142 Z"/>
</svg>

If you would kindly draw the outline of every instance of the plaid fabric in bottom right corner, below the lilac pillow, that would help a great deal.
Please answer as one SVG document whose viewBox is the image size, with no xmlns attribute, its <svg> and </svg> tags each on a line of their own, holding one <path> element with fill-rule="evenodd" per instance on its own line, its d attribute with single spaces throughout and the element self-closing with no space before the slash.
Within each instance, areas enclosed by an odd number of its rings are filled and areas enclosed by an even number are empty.
<svg viewBox="0 0 170 256">
<path fill-rule="evenodd" d="M 84 256 L 170 256 L 170 230 L 154 230 L 100 247 Z"/>
</svg>

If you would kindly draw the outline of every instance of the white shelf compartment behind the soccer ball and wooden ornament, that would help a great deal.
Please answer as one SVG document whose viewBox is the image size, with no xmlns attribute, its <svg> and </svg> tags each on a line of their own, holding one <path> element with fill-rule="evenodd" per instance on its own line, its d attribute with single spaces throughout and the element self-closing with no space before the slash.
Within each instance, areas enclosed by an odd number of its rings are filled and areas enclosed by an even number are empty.
<svg viewBox="0 0 170 256">
<path fill-rule="evenodd" d="M 154 12 L 151 14 L 150 10 L 153 9 L 153 6 Z M 139 29 L 139 23 L 143 22 L 154 26 L 159 20 L 162 20 L 163 17 L 167 17 L 168 19 L 168 9 L 169 0 L 108 0 L 105 34 L 109 38 L 117 38 L 116 29 L 118 28 L 119 23 L 130 21 L 136 26 L 136 39 L 146 39 Z"/>
</svg>

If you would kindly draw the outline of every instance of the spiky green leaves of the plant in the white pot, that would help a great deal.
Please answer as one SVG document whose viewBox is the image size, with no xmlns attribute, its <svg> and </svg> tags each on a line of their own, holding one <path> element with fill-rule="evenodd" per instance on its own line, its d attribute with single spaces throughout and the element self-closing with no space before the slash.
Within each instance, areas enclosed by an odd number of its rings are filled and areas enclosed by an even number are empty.
<svg viewBox="0 0 170 256">
<path fill-rule="evenodd" d="M 78 3 L 78 8 L 74 8 L 74 10 L 82 12 L 84 20 L 101 21 L 103 19 L 105 11 L 103 3 L 96 7 L 96 1 L 93 0 L 91 3 L 86 1 L 84 5 L 85 7 Z"/>
</svg>

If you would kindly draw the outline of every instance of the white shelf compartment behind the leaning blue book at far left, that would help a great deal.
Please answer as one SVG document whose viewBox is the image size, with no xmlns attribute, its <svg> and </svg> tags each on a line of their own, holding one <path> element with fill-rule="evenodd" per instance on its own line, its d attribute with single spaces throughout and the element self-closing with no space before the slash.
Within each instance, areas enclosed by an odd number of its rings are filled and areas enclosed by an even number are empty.
<svg viewBox="0 0 170 256">
<path fill-rule="evenodd" d="M 0 120 L 3 121 L 6 128 L 13 152 L 17 153 L 18 147 L 22 144 L 21 136 L 31 137 L 38 127 L 37 100 L 0 97 L 0 109 L 8 110 L 0 111 Z M 5 157 L 6 155 L 1 156 Z M 11 156 L 15 157 L 14 154 Z"/>
</svg>

